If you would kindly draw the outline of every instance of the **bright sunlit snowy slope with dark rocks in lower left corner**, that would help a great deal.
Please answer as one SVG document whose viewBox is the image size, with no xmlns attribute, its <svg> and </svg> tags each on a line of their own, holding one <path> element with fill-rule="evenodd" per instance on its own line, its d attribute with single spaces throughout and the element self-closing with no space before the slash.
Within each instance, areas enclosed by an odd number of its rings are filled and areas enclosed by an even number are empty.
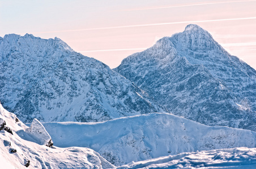
<svg viewBox="0 0 256 169">
<path fill-rule="evenodd" d="M 0 119 L 12 132 L 0 131 L 0 168 L 26 168 L 26 164 L 28 168 L 115 168 L 92 149 L 49 148 L 32 142 L 35 137 L 26 132 L 28 127 L 18 121 L 15 114 L 3 109 L 1 104 Z M 39 129 L 40 125 L 36 128 Z M 44 132 L 44 128 L 40 131 Z"/>
</svg>

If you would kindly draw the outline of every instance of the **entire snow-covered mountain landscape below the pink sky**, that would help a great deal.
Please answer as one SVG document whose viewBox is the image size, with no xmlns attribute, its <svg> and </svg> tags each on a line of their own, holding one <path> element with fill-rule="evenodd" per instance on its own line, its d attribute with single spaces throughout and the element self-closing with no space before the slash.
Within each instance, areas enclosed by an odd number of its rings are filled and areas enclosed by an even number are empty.
<svg viewBox="0 0 256 169">
<path fill-rule="evenodd" d="M 256 71 L 198 25 L 113 70 L 8 34 L 0 72 L 0 167 L 255 167 Z"/>
</svg>

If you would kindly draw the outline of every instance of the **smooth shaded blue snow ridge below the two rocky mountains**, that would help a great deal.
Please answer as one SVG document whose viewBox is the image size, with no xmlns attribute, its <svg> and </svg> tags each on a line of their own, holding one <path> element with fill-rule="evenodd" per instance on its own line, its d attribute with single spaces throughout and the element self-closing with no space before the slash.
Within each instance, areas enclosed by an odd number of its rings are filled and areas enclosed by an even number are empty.
<svg viewBox="0 0 256 169">
<path fill-rule="evenodd" d="M 116 166 L 197 150 L 256 146 L 256 133 L 205 126 L 166 113 L 149 113 L 106 122 L 42 123 L 59 147 L 88 147 Z"/>
</svg>

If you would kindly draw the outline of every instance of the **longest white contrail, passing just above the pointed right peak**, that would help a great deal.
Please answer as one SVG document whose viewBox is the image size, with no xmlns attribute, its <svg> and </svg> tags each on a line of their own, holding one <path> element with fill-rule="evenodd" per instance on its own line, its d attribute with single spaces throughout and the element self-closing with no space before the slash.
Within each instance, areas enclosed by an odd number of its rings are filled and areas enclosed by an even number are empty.
<svg viewBox="0 0 256 169">
<path fill-rule="evenodd" d="M 207 23 L 207 22 L 216 22 L 216 21 L 232 21 L 232 20 L 250 20 L 256 19 L 256 17 L 240 17 L 240 18 L 232 18 L 232 19 L 214 19 L 214 20 L 195 20 L 195 21 L 180 21 L 180 22 L 172 22 L 172 23 L 156 23 L 156 24 L 141 24 L 141 25 L 125 25 L 125 26 L 111 26 L 104 28 L 88 28 L 88 29 L 72 29 L 72 30 L 56 30 L 49 32 L 32 32 L 32 33 L 58 33 L 58 32 L 78 32 L 78 31 L 87 31 L 87 30 L 104 30 L 104 29 L 118 29 L 118 28 L 135 28 L 142 26 L 159 26 L 159 25 L 172 25 L 172 24 L 190 24 L 190 23 Z"/>
</svg>

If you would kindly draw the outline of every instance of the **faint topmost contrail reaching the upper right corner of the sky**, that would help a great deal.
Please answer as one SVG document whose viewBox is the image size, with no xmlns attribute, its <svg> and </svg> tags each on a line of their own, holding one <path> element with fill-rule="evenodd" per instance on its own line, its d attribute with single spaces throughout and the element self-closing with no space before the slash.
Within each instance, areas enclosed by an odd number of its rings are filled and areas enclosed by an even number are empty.
<svg viewBox="0 0 256 169">
<path fill-rule="evenodd" d="M 255 1 L 255 0 L 249 0 L 249 1 L 227 1 L 227 2 L 210 2 L 210 3 L 195 3 L 195 4 L 177 5 L 177 6 L 163 6 L 163 7 L 137 8 L 137 9 L 130 9 L 130 10 L 122 10 L 122 11 L 156 10 L 156 9 L 163 9 L 163 8 L 177 8 L 177 7 L 187 7 L 187 6 L 214 5 L 214 4 L 221 4 L 221 3 L 239 3 L 239 2 L 254 2 L 254 1 Z"/>
</svg>

